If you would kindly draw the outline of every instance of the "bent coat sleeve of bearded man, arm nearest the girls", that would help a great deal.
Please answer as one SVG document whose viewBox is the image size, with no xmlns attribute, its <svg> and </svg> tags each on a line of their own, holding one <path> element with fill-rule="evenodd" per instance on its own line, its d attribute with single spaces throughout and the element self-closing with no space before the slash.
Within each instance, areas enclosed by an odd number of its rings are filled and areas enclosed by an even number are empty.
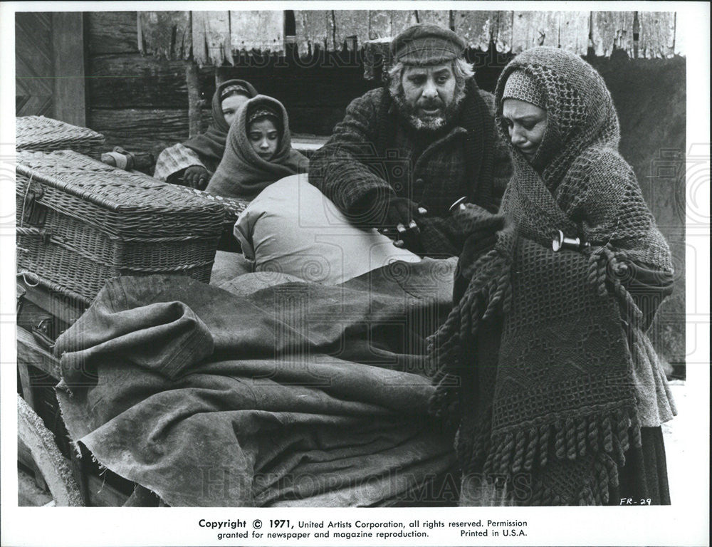
<svg viewBox="0 0 712 547">
<path fill-rule="evenodd" d="M 309 182 L 357 224 L 376 224 L 384 214 L 385 198 L 395 196 L 378 174 L 375 142 L 382 93 L 372 90 L 353 100 L 309 166 Z"/>
</svg>

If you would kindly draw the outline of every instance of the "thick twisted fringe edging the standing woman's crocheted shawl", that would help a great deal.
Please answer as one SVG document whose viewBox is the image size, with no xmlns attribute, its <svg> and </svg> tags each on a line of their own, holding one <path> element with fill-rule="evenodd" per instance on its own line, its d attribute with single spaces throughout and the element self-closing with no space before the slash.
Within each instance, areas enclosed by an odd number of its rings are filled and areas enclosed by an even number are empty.
<svg viewBox="0 0 712 547">
<path fill-rule="evenodd" d="M 501 432 L 492 430 L 491 409 L 477 425 L 460 420 L 458 390 L 461 376 L 466 372 L 462 367 L 463 363 L 471 363 L 471 358 L 467 359 L 471 349 L 467 342 L 473 340 L 481 323 L 508 312 L 511 262 L 511 255 L 503 253 L 500 247 L 483 255 L 473 268 L 476 276 L 471 279 L 459 306 L 429 338 L 429 351 L 436 356 L 438 365 L 430 410 L 444 420 L 446 428 L 456 428 L 458 424 L 462 428 L 456 452 L 465 474 L 482 469 L 484 476 L 511 477 L 543 469 L 551 461 L 592 455 L 595 457 L 592 475 L 584 481 L 576 499 L 562 499 L 549 487 L 538 484 L 528 503 L 545 506 L 607 503 L 609 486 L 617 486 L 618 469 L 625 464 L 624 454 L 632 446 L 641 446 L 637 410 L 633 405 L 604 412 L 597 410 L 549 424 L 525 424 Z M 595 249 L 589 257 L 588 281 L 601 296 L 615 296 L 620 306 L 629 309 L 629 317 L 641 321 L 642 313 L 619 276 L 610 275 L 611 270 L 617 271 L 619 264 L 624 264 L 624 259 L 611 249 Z"/>
</svg>

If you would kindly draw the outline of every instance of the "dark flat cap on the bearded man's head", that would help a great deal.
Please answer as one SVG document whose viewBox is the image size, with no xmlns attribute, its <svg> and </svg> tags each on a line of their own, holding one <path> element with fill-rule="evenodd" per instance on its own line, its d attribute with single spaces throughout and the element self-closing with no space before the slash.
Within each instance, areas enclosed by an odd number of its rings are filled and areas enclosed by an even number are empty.
<svg viewBox="0 0 712 547">
<path fill-rule="evenodd" d="M 391 58 L 406 65 L 437 65 L 462 56 L 467 42 L 449 28 L 422 23 L 406 28 L 391 42 Z"/>
</svg>

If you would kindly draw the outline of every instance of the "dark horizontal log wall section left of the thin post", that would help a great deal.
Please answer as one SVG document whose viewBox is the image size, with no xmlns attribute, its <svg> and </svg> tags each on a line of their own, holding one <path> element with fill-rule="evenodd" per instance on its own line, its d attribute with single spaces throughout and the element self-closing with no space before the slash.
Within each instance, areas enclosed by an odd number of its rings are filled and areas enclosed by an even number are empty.
<svg viewBox="0 0 712 547">
<path fill-rule="evenodd" d="M 88 36 L 88 125 L 103 133 L 107 147 L 148 150 L 155 155 L 188 136 L 188 92 L 185 43 L 192 39 L 177 25 L 182 20 L 165 12 L 174 38 L 164 48 L 143 56 L 137 33 L 137 12 L 86 14 Z M 183 19 L 184 20 L 184 19 Z M 150 41 L 150 40 L 149 40 Z M 154 41 L 154 43 L 156 43 Z M 178 60 L 167 58 L 179 57 Z M 205 78 L 212 71 L 206 70 Z"/>
</svg>

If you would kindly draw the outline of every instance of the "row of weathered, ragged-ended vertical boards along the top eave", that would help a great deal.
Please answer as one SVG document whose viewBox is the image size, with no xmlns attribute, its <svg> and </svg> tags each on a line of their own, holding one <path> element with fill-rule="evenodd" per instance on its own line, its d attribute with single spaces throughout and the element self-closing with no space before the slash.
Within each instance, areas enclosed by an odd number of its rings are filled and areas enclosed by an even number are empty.
<svg viewBox="0 0 712 547">
<path fill-rule="evenodd" d="M 620 49 L 630 58 L 667 58 L 681 51 L 673 12 L 659 11 L 294 11 L 300 56 L 316 50 L 354 51 L 371 40 L 387 41 L 414 23 L 452 28 L 472 48 L 520 53 L 553 46 L 585 55 L 609 56 Z M 282 11 L 144 11 L 140 50 L 167 58 L 193 58 L 200 65 L 234 64 L 240 52 L 284 51 Z"/>
</svg>

